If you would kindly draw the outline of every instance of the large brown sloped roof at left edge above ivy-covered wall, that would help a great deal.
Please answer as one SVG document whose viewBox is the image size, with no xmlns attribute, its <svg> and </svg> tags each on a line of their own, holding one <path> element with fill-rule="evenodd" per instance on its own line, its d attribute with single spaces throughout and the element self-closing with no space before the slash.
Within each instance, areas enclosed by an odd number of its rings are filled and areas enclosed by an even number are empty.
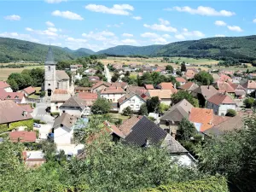
<svg viewBox="0 0 256 192">
<path fill-rule="evenodd" d="M 23 115 L 25 110 L 12 101 L 0 101 L 0 124 L 32 119 L 30 113 Z"/>
</svg>

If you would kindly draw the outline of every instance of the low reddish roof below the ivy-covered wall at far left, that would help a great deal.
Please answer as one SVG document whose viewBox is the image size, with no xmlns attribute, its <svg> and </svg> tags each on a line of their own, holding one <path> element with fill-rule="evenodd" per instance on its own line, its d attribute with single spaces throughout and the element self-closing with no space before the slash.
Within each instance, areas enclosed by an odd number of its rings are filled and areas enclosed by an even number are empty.
<svg viewBox="0 0 256 192">
<path fill-rule="evenodd" d="M 35 131 L 10 131 L 9 140 L 11 143 L 35 143 L 37 135 Z"/>
</svg>

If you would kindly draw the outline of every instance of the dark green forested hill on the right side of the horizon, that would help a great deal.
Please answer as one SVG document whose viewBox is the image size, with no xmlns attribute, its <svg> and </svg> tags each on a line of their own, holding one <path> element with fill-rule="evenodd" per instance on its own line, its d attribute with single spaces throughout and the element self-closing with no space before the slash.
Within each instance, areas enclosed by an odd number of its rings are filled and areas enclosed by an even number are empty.
<svg viewBox="0 0 256 192">
<path fill-rule="evenodd" d="M 203 38 L 166 44 L 155 55 L 233 58 L 245 61 L 256 60 L 256 36 L 234 38 Z"/>
</svg>

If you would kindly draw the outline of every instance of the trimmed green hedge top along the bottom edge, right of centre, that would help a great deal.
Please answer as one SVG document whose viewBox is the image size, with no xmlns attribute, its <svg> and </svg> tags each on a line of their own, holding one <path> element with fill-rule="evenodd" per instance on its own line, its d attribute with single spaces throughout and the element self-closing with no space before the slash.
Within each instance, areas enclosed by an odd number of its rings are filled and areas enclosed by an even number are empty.
<svg viewBox="0 0 256 192">
<path fill-rule="evenodd" d="M 229 187 L 224 177 L 209 177 L 183 183 L 160 185 L 154 189 L 140 190 L 141 192 L 228 192 Z"/>
</svg>

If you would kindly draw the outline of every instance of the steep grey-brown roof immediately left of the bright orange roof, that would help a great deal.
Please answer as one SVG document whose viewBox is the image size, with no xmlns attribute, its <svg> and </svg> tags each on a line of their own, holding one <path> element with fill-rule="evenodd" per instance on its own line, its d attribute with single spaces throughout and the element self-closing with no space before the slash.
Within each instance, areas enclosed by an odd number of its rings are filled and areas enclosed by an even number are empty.
<svg viewBox="0 0 256 192">
<path fill-rule="evenodd" d="M 187 100 L 183 99 L 180 102 L 177 102 L 172 108 L 170 108 L 160 120 L 170 120 L 174 122 L 180 122 L 183 118 L 189 119 L 189 112 L 193 108 Z"/>
</svg>

